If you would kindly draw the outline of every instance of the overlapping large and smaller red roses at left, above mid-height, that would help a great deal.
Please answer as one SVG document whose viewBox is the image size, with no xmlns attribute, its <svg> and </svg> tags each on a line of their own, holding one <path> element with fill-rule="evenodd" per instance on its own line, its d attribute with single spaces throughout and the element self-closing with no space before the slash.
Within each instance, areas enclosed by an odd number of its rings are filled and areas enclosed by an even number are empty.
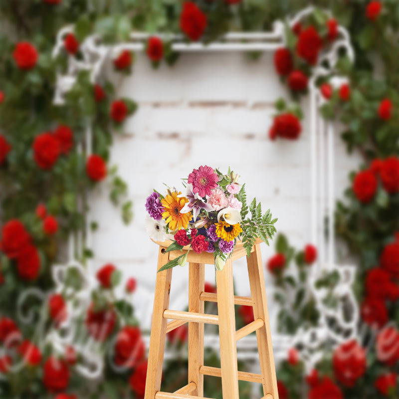
<svg viewBox="0 0 399 399">
<path fill-rule="evenodd" d="M 35 137 L 33 159 L 41 169 L 51 169 L 60 154 L 68 155 L 73 146 L 73 132 L 69 126 L 59 125 L 55 131 L 45 132 Z"/>
</svg>

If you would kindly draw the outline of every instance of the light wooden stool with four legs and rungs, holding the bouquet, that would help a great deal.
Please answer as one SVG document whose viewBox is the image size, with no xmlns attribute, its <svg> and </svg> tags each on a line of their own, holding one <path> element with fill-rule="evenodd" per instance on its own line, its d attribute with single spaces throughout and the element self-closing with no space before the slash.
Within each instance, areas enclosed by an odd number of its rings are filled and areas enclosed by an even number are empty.
<svg viewBox="0 0 399 399">
<path fill-rule="evenodd" d="M 276 371 L 271 345 L 270 324 L 263 280 L 262 259 L 257 240 L 247 257 L 251 298 L 234 296 L 232 261 L 246 256 L 237 241 L 234 252 L 222 271 L 216 270 L 217 294 L 204 292 L 204 264 L 214 263 L 213 253 L 189 252 L 189 311 L 169 310 L 172 270 L 157 273 L 154 311 L 151 327 L 148 372 L 144 399 L 206 399 L 203 398 L 203 376 L 221 377 L 223 399 L 239 399 L 238 380 L 261 383 L 262 399 L 278 399 Z M 158 242 L 158 269 L 184 252 L 166 252 L 171 241 Z M 204 314 L 204 301 L 217 302 L 218 315 Z M 235 305 L 253 307 L 254 321 L 235 331 Z M 169 323 L 167 319 L 172 319 Z M 173 394 L 160 392 L 166 334 L 189 322 L 189 381 Z M 221 368 L 203 365 L 203 323 L 217 324 L 220 339 Z M 261 375 L 237 370 L 236 341 L 256 331 Z"/>
</svg>

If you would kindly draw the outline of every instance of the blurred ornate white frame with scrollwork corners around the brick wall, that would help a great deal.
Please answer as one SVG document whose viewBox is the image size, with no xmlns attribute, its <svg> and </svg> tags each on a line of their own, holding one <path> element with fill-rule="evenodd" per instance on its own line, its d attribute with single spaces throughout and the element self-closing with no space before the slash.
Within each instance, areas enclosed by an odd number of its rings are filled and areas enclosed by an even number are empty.
<svg viewBox="0 0 399 399">
<path fill-rule="evenodd" d="M 299 12 L 294 18 L 287 21 L 290 26 L 313 12 L 313 7 L 307 7 Z M 53 49 L 53 56 L 57 56 L 63 49 L 63 38 L 65 34 L 73 32 L 73 26 L 67 26 L 61 29 L 57 35 L 57 41 Z M 159 34 L 163 39 L 172 41 L 172 48 L 179 52 L 190 51 L 275 51 L 281 46 L 285 45 L 285 26 L 282 21 L 276 21 L 273 24 L 271 32 L 249 32 L 249 33 L 227 33 L 218 41 L 210 44 L 202 43 L 187 43 L 183 41 L 181 35 Z M 345 28 L 339 26 L 339 38 L 324 51 L 318 60 L 317 65 L 313 68 L 312 77 L 310 79 L 310 179 L 311 179 L 311 239 L 312 242 L 319 248 L 318 267 L 312 269 L 313 275 L 309 289 L 315 295 L 317 308 L 321 313 L 320 325 L 311 331 L 301 331 L 300 338 L 278 335 L 274 337 L 273 347 L 275 350 L 275 357 L 284 358 L 287 349 L 301 342 L 309 354 L 318 345 L 321 345 L 325 340 L 329 339 L 335 343 L 340 343 L 347 339 L 340 333 L 332 332 L 328 328 L 327 320 L 335 318 L 336 322 L 342 327 L 342 331 L 350 331 L 350 336 L 356 335 L 356 326 L 358 322 L 358 313 L 356 301 L 351 290 L 351 283 L 353 281 L 353 270 L 349 266 L 338 266 L 335 263 L 335 243 L 334 243 L 334 226 L 333 226 L 333 212 L 334 212 L 334 124 L 330 121 L 325 121 L 319 114 L 318 108 L 325 101 L 318 88 L 315 85 L 316 80 L 321 76 L 330 76 L 330 83 L 334 87 L 339 87 L 344 81 L 344 77 L 336 75 L 335 65 L 339 59 L 339 51 L 344 48 L 347 55 L 353 60 L 354 52 L 350 44 L 350 37 Z M 68 56 L 68 64 L 66 73 L 59 73 L 57 75 L 54 103 L 63 104 L 64 95 L 73 87 L 76 82 L 76 77 L 79 71 L 87 70 L 90 72 L 90 79 L 93 83 L 99 81 L 103 73 L 105 63 L 115 58 L 121 50 L 143 51 L 145 49 L 145 42 L 150 34 L 143 32 L 132 32 L 130 40 L 125 43 L 115 45 L 106 45 L 101 42 L 98 35 L 91 35 L 85 38 L 80 45 L 82 53 L 82 60 L 77 60 L 74 56 Z M 91 126 L 87 126 L 86 131 L 86 151 L 90 153 L 91 149 Z M 324 234 L 325 217 L 328 217 L 327 237 Z M 90 246 L 90 228 L 87 228 L 86 242 Z M 80 237 L 83 238 L 83 237 Z M 75 241 L 76 242 L 76 241 Z M 79 239 L 77 240 L 79 242 Z M 70 244 L 70 259 L 74 258 L 73 254 L 76 249 L 75 243 L 71 240 Z M 90 270 L 90 269 L 89 269 Z M 332 312 L 323 304 L 325 292 L 317 290 L 314 282 L 325 271 L 337 270 L 340 274 L 341 284 L 334 292 L 337 298 L 346 298 L 347 301 L 353 305 L 353 316 L 349 321 L 346 321 L 343 316 L 343 308 Z M 216 339 L 217 338 L 217 339 Z M 219 342 L 217 336 L 211 336 L 205 339 L 205 345 L 218 348 Z M 256 341 L 253 337 L 246 337 L 237 343 L 238 357 L 241 359 L 252 358 L 251 352 L 248 349 L 256 349 Z M 253 352 L 253 355 L 256 355 Z M 167 355 L 168 356 L 168 355 Z M 256 355 L 257 356 L 257 355 Z M 308 360 L 308 367 L 317 360 L 314 356 L 306 357 Z"/>
</svg>

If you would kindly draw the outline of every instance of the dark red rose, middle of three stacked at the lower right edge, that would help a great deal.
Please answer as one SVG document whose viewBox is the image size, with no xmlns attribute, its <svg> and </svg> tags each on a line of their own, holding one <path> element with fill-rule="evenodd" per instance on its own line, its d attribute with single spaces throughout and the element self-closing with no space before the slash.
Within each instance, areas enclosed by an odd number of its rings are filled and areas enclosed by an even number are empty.
<svg viewBox="0 0 399 399">
<path fill-rule="evenodd" d="M 367 272 L 366 292 L 368 297 L 381 300 L 396 301 L 399 298 L 399 286 L 392 281 L 391 275 L 381 267 L 376 267 Z"/>
</svg>

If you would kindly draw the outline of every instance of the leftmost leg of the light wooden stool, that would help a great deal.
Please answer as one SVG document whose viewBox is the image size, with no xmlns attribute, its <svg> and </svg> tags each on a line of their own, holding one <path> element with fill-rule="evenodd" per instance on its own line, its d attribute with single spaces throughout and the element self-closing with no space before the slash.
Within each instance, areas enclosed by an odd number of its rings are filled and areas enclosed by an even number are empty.
<svg viewBox="0 0 399 399">
<path fill-rule="evenodd" d="M 165 248 L 159 248 L 158 269 L 169 261 L 169 252 L 162 253 L 162 249 Z M 161 389 L 167 324 L 167 319 L 164 319 L 163 314 L 164 310 L 169 306 L 171 280 L 172 269 L 167 269 L 157 273 L 144 399 L 154 399 L 155 394 Z"/>
</svg>

